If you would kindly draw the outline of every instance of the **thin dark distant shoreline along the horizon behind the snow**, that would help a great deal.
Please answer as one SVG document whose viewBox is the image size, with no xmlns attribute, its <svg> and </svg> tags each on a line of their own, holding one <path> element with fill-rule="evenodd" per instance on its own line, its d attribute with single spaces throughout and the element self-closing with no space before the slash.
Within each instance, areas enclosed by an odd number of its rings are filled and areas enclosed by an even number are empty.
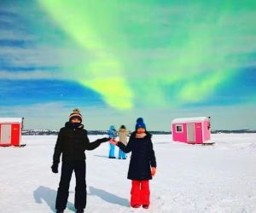
<svg viewBox="0 0 256 213">
<path fill-rule="evenodd" d="M 152 135 L 172 135 L 171 131 L 149 131 Z M 22 130 L 21 135 L 58 135 L 59 130 Z M 88 135 L 107 135 L 106 130 L 88 130 Z M 218 133 L 256 133 L 256 130 L 212 130 L 212 134 Z"/>
</svg>

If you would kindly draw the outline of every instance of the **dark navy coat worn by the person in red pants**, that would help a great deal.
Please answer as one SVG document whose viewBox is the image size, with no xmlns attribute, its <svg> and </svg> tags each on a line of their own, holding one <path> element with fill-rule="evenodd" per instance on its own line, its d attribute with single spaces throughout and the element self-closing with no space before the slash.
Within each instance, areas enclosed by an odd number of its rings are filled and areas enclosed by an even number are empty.
<svg viewBox="0 0 256 213">
<path fill-rule="evenodd" d="M 122 142 L 118 142 L 118 147 L 125 153 L 131 152 L 131 161 L 127 178 L 130 180 L 150 180 L 151 167 L 156 167 L 152 135 L 146 132 L 143 138 L 136 138 L 136 132 L 131 134 L 127 146 Z"/>
</svg>

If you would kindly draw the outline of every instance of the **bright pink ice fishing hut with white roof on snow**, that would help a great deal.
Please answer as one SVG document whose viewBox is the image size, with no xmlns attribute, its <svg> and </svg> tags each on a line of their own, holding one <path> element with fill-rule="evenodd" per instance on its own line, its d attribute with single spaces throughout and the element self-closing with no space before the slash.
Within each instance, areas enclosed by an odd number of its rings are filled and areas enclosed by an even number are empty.
<svg viewBox="0 0 256 213">
<path fill-rule="evenodd" d="M 212 144 L 210 117 L 175 118 L 172 141 L 190 144 Z"/>
</svg>

